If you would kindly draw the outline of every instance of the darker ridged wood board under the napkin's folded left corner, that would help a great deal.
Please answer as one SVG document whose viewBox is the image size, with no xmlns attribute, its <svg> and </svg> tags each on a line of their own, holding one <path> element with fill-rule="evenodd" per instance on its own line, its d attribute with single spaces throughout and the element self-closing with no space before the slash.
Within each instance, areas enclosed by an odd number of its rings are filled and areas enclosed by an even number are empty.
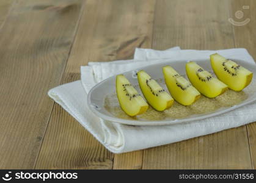
<svg viewBox="0 0 256 183">
<path fill-rule="evenodd" d="M 80 74 L 65 74 L 66 81 Z M 112 154 L 58 104 L 54 104 L 36 169 L 109 169 Z"/>
</svg>

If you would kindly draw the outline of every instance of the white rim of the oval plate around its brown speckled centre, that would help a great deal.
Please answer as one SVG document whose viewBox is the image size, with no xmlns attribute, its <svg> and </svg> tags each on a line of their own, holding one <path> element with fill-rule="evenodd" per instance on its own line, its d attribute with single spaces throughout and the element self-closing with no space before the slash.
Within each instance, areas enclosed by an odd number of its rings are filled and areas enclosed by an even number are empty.
<svg viewBox="0 0 256 183">
<path fill-rule="evenodd" d="M 234 59 L 233 59 L 234 60 Z M 211 69 L 211 64 L 209 60 L 193 60 L 197 63 L 199 63 L 200 66 L 205 68 L 205 70 L 210 71 L 213 73 Z M 236 63 L 240 64 L 241 66 L 244 66 L 244 68 L 248 68 L 254 75 L 256 74 L 256 65 L 252 63 L 244 62 L 243 60 L 234 60 Z M 183 61 L 172 61 L 172 62 L 161 62 L 156 63 L 153 65 L 148 65 L 143 68 L 138 68 L 133 71 L 129 71 L 126 73 L 123 73 L 124 76 L 131 82 L 133 85 L 138 85 L 137 82 L 137 76 L 136 73 L 139 70 L 144 70 L 153 79 L 162 79 L 163 83 L 160 83 L 164 88 L 166 86 L 164 85 L 164 79 L 163 79 L 163 73 L 162 68 L 163 66 L 170 65 L 175 70 L 177 70 L 178 73 L 181 75 L 185 75 L 185 65 L 186 60 Z M 166 90 L 167 91 L 167 90 Z M 256 100 L 256 81 L 255 79 L 252 79 L 251 84 L 244 88 L 243 90 L 247 98 L 244 99 L 244 101 L 240 102 L 239 104 L 236 104 L 235 106 L 230 107 L 222 107 L 220 109 L 214 110 L 210 113 L 201 113 L 196 115 L 191 115 L 189 117 L 185 118 L 172 118 L 172 119 L 165 119 L 165 120 L 141 120 L 139 118 L 119 118 L 110 113 L 106 107 L 104 106 L 104 99 L 106 96 L 110 95 L 111 93 L 115 93 L 115 76 L 109 77 L 108 79 L 105 79 L 104 81 L 101 81 L 97 85 L 95 85 L 90 91 L 87 96 L 87 101 L 89 104 L 90 109 L 93 113 L 95 113 L 98 117 L 103 118 L 104 120 L 114 121 L 117 123 L 122 124 L 129 124 L 129 125 L 135 125 L 135 126 L 159 126 L 159 125 L 167 125 L 167 124 L 175 124 L 175 123 L 181 123 L 185 121 L 194 121 L 194 120 L 202 120 L 204 118 L 214 117 L 216 115 L 220 115 L 225 112 L 229 112 L 230 110 L 237 109 L 238 107 L 244 106 L 246 104 L 249 104 L 251 102 L 254 102 Z M 141 92 L 141 91 L 139 91 Z M 168 91 L 167 91 L 168 92 Z M 115 95 L 114 95 L 115 96 Z M 117 100 L 115 100 L 117 101 Z M 171 108 L 170 108 L 171 109 Z"/>
</svg>

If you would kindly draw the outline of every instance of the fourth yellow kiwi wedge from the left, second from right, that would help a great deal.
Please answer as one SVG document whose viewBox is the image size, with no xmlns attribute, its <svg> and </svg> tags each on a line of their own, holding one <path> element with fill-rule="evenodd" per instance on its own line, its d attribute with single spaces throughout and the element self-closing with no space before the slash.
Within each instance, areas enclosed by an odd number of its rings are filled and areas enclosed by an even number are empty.
<svg viewBox="0 0 256 183">
<path fill-rule="evenodd" d="M 186 74 L 191 84 L 208 98 L 214 98 L 224 93 L 228 86 L 205 71 L 196 62 L 186 63 Z"/>
</svg>

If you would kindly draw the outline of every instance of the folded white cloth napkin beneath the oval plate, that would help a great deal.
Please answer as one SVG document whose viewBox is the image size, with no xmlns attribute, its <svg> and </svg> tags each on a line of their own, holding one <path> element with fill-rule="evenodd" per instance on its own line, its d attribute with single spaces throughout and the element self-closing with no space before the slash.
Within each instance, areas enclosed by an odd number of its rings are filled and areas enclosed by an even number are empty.
<svg viewBox="0 0 256 183">
<path fill-rule="evenodd" d="M 112 123 L 98 118 L 87 106 L 87 92 L 90 88 L 114 74 L 156 62 L 166 62 L 164 59 L 169 61 L 209 59 L 210 54 L 215 52 L 230 59 L 243 59 L 254 63 L 254 59 L 243 48 L 219 51 L 180 50 L 179 47 L 166 51 L 137 48 L 134 60 L 90 62 L 89 66 L 82 66 L 81 81 L 60 85 L 49 90 L 48 95 L 76 118 L 109 151 L 115 153 L 166 145 L 256 121 L 256 103 L 216 117 L 168 126 L 128 126 Z"/>
</svg>

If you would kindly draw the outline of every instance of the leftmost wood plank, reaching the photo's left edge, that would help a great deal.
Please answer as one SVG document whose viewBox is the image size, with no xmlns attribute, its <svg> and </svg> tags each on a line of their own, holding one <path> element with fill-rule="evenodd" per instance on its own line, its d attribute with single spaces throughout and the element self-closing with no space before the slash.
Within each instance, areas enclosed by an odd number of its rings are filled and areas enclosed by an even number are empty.
<svg viewBox="0 0 256 183">
<path fill-rule="evenodd" d="M 79 18 L 79 0 L 13 5 L 0 36 L 0 168 L 34 168 Z"/>
</svg>

